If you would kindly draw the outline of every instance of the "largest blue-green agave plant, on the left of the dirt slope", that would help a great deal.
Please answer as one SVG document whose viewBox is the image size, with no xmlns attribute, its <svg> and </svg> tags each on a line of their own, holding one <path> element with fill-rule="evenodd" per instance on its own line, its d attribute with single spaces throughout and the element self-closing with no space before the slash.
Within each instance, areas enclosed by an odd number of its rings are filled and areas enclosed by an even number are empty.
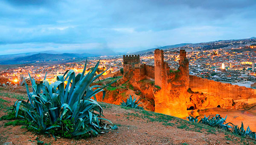
<svg viewBox="0 0 256 145">
<path fill-rule="evenodd" d="M 26 91 L 28 101 L 17 100 L 15 102 L 15 117 L 21 117 L 29 122 L 29 127 L 34 128 L 40 133 L 52 133 L 56 130 L 64 130 L 64 137 L 72 136 L 96 136 L 102 127 L 101 118 L 102 107 L 96 101 L 95 94 L 103 92 L 102 99 L 105 97 L 103 90 L 108 85 L 100 86 L 91 83 L 99 78 L 101 74 L 96 74 L 99 62 L 84 75 L 87 60 L 82 73 L 75 74 L 73 70 L 68 70 L 64 75 L 57 77 L 57 80 L 49 84 L 46 79 L 39 84 L 32 82 L 32 92 L 29 92 L 28 85 Z M 67 82 L 65 85 L 64 82 Z M 94 97 L 94 100 L 91 99 Z M 21 114 L 21 115 L 20 115 Z M 107 120 L 111 123 L 111 121 Z M 66 126 L 69 122 L 71 126 Z M 68 134 L 68 135 L 67 135 Z"/>
</svg>

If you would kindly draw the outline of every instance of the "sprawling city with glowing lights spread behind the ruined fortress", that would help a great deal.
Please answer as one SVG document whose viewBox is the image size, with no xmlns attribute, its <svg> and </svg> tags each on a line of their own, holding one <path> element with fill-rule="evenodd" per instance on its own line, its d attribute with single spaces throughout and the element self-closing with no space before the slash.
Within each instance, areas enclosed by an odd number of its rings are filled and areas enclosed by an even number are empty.
<svg viewBox="0 0 256 145">
<path fill-rule="evenodd" d="M 256 88 L 256 40 L 220 40 L 210 43 L 187 44 L 183 47 L 164 49 L 165 61 L 172 69 L 179 66 L 179 50 L 187 51 L 189 59 L 189 74 L 215 80 L 227 82 L 235 85 Z M 154 65 L 154 50 L 134 53 L 140 55 L 141 63 Z M 133 55 L 133 53 L 128 54 Z M 120 69 L 123 67 L 123 56 L 111 57 L 90 57 L 87 60 L 87 72 L 99 60 L 99 70 L 101 73 L 108 69 L 101 79 L 122 75 Z M 58 65 L 37 65 L 27 64 L 15 68 L 6 68 L 0 71 L 0 77 L 9 79 L 12 84 L 17 84 L 20 77 L 34 77 L 35 80 L 44 80 L 47 73 L 49 82 L 55 81 L 55 77 L 64 74 L 66 70 L 74 70 L 81 73 L 84 68 L 85 59 L 78 62 L 58 64 Z M 1 84 L 8 85 L 8 84 Z"/>
</svg>

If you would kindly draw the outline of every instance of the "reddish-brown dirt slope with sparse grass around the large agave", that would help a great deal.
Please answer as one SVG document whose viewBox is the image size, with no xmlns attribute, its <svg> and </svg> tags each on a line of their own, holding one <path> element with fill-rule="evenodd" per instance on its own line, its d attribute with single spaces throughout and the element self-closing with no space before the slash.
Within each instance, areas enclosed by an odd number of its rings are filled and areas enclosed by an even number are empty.
<svg viewBox="0 0 256 145">
<path fill-rule="evenodd" d="M 23 88 L 0 87 L 0 116 L 11 108 L 17 99 L 26 100 Z M 28 132 L 22 126 L 6 126 L 7 120 L 0 121 L 0 144 L 95 144 L 95 145 L 225 145 L 255 144 L 249 138 L 207 125 L 151 111 L 141 111 L 118 105 L 100 103 L 105 118 L 118 126 L 117 130 L 87 139 L 64 139 Z"/>
</svg>

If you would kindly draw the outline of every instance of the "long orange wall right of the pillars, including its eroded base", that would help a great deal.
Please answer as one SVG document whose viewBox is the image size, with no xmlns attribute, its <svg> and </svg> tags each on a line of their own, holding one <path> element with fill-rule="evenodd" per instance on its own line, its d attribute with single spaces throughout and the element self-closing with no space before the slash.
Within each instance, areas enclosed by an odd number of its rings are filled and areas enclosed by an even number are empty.
<svg viewBox="0 0 256 145">
<path fill-rule="evenodd" d="M 256 89 L 252 88 L 216 82 L 193 75 L 189 75 L 189 88 L 193 92 L 208 96 L 209 103 L 206 107 L 220 105 L 223 108 L 239 109 L 256 103 Z"/>
</svg>

